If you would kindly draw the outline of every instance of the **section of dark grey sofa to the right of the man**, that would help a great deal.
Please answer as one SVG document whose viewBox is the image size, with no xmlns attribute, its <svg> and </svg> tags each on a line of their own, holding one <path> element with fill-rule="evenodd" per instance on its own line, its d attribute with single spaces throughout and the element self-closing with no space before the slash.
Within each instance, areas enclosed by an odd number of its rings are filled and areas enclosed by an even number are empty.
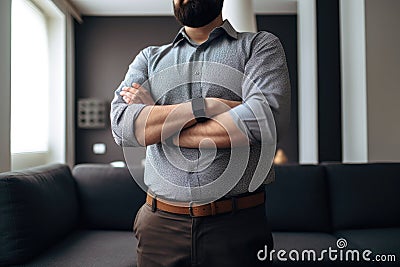
<svg viewBox="0 0 400 267">
<path fill-rule="evenodd" d="M 369 249 L 370 258 L 394 254 L 397 261 L 325 258 L 274 266 L 400 266 L 399 163 L 282 166 L 276 173 L 266 187 L 275 250 L 339 250 L 344 238 L 349 250 Z"/>
</svg>

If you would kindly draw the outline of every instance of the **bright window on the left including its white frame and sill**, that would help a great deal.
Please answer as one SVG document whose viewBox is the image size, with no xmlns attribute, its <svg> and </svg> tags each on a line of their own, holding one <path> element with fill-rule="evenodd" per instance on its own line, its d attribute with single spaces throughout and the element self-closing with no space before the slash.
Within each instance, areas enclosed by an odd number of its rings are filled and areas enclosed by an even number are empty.
<svg viewBox="0 0 400 267">
<path fill-rule="evenodd" d="M 11 169 L 65 162 L 65 17 L 50 0 L 11 16 Z"/>
</svg>

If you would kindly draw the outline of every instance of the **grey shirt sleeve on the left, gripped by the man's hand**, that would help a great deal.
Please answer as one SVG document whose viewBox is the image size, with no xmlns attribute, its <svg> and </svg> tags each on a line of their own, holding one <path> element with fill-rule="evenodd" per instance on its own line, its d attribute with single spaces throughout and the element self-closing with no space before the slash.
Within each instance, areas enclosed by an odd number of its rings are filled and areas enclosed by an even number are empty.
<svg viewBox="0 0 400 267">
<path fill-rule="evenodd" d="M 133 62 L 129 65 L 125 79 L 114 92 L 114 99 L 111 102 L 111 130 L 115 142 L 119 146 L 140 146 L 135 136 L 135 121 L 144 104 L 126 104 L 120 92 L 125 86 L 132 86 L 132 83 L 144 84 L 148 80 L 148 60 L 146 49 L 142 50 Z M 150 90 L 150 88 L 146 88 Z"/>
</svg>

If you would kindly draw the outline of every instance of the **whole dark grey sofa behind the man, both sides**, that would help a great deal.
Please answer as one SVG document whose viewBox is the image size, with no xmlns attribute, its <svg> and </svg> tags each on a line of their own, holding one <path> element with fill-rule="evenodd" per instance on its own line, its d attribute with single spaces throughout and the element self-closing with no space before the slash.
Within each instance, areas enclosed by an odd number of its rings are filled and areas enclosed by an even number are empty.
<svg viewBox="0 0 400 267">
<path fill-rule="evenodd" d="M 273 254 L 274 266 L 400 266 L 399 163 L 280 166 L 266 192 L 274 249 L 286 251 L 286 261 Z M 144 198 L 126 168 L 110 165 L 0 174 L 0 266 L 136 266 L 132 224 Z M 397 261 L 289 257 L 339 251 L 339 238 L 344 254 L 369 249 Z"/>
</svg>

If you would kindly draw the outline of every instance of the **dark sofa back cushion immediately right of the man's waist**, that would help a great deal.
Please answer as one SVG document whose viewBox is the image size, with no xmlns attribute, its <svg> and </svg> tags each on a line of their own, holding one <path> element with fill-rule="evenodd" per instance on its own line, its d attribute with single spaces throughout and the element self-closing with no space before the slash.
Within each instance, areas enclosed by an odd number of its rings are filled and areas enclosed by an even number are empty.
<svg viewBox="0 0 400 267">
<path fill-rule="evenodd" d="M 275 166 L 276 179 L 266 185 L 267 216 L 273 231 L 332 229 L 328 188 L 322 166 Z"/>
</svg>

